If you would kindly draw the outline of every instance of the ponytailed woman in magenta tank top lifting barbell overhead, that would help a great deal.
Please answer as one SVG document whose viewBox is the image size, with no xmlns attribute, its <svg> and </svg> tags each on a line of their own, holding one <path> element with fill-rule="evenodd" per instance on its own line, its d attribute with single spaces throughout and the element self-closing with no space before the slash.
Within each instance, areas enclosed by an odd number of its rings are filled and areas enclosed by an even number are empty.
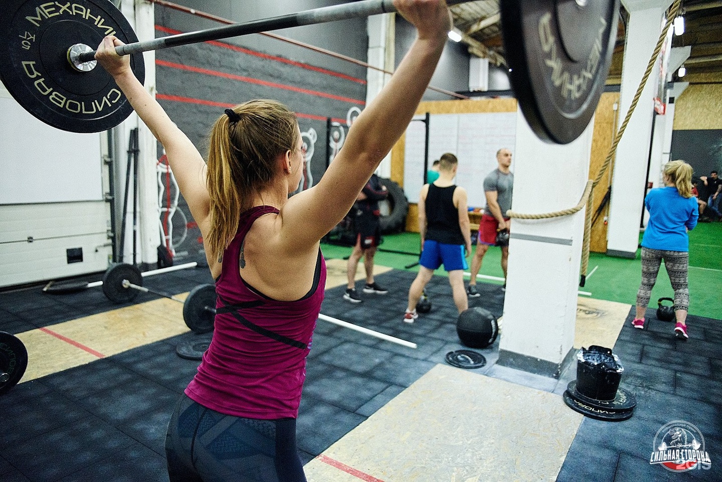
<svg viewBox="0 0 722 482">
<path fill-rule="evenodd" d="M 451 29 L 443 0 L 394 6 L 417 27 L 417 39 L 321 181 L 291 198 L 304 160 L 294 113 L 273 100 L 226 109 L 210 134 L 206 165 L 134 77 L 128 57 L 118 56 L 120 40 L 106 37 L 98 47 L 97 61 L 165 147 L 216 280 L 213 340 L 168 427 L 171 482 L 245 480 L 244 473 L 305 481 L 295 419 L 325 288 L 319 241 L 411 121 Z M 236 441 L 233 455 L 227 444 L 217 453 L 219 437 Z"/>
</svg>

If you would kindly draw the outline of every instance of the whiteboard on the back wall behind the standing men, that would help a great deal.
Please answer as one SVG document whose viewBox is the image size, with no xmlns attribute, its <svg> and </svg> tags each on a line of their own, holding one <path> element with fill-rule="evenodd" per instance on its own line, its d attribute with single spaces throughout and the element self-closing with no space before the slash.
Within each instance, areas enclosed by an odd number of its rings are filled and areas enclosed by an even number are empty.
<svg viewBox="0 0 722 482">
<path fill-rule="evenodd" d="M 444 152 L 458 158 L 456 185 L 469 194 L 469 207 L 484 207 L 484 178 L 497 168 L 497 150 L 513 154 L 516 112 L 432 114 L 429 121 L 429 166 Z M 424 169 L 425 124 L 412 122 L 406 129 L 404 192 L 419 202 Z M 512 165 L 513 171 L 513 165 Z"/>
</svg>

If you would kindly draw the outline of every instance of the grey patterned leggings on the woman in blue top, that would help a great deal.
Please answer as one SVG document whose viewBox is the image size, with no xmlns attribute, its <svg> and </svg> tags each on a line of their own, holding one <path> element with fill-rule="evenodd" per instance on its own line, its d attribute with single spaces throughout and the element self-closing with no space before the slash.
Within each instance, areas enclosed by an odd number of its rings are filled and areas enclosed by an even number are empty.
<svg viewBox="0 0 722 482">
<path fill-rule="evenodd" d="M 642 284 L 637 292 L 637 306 L 649 306 L 649 298 L 652 296 L 662 259 L 674 289 L 674 310 L 688 311 L 690 288 L 687 285 L 687 267 L 690 264 L 690 254 L 687 251 L 642 248 Z"/>
</svg>

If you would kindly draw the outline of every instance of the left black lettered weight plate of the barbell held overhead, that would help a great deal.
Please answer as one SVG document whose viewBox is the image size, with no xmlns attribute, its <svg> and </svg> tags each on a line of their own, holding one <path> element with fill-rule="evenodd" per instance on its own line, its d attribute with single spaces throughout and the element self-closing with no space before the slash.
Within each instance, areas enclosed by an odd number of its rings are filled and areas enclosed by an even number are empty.
<svg viewBox="0 0 722 482">
<path fill-rule="evenodd" d="M 0 79 L 26 111 L 69 132 L 102 132 L 130 115 L 133 108 L 102 66 L 79 72 L 68 60 L 72 46 L 95 50 L 105 35 L 138 41 L 110 1 L 7 0 L 2 9 Z M 131 55 L 131 69 L 143 83 L 142 54 Z"/>
</svg>

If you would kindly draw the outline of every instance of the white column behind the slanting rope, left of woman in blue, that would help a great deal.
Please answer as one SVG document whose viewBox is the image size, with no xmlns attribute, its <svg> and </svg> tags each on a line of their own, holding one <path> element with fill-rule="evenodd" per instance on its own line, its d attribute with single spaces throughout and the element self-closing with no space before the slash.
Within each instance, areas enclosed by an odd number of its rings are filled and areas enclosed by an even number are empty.
<svg viewBox="0 0 722 482">
<path fill-rule="evenodd" d="M 627 0 L 630 12 L 625 41 L 619 125 L 624 121 L 662 30 L 669 0 Z M 652 139 L 654 98 L 660 79 L 652 72 L 617 147 L 609 201 L 607 254 L 634 258 L 639 244 L 647 163 Z M 651 173 L 651 171 L 650 171 Z"/>
</svg>

